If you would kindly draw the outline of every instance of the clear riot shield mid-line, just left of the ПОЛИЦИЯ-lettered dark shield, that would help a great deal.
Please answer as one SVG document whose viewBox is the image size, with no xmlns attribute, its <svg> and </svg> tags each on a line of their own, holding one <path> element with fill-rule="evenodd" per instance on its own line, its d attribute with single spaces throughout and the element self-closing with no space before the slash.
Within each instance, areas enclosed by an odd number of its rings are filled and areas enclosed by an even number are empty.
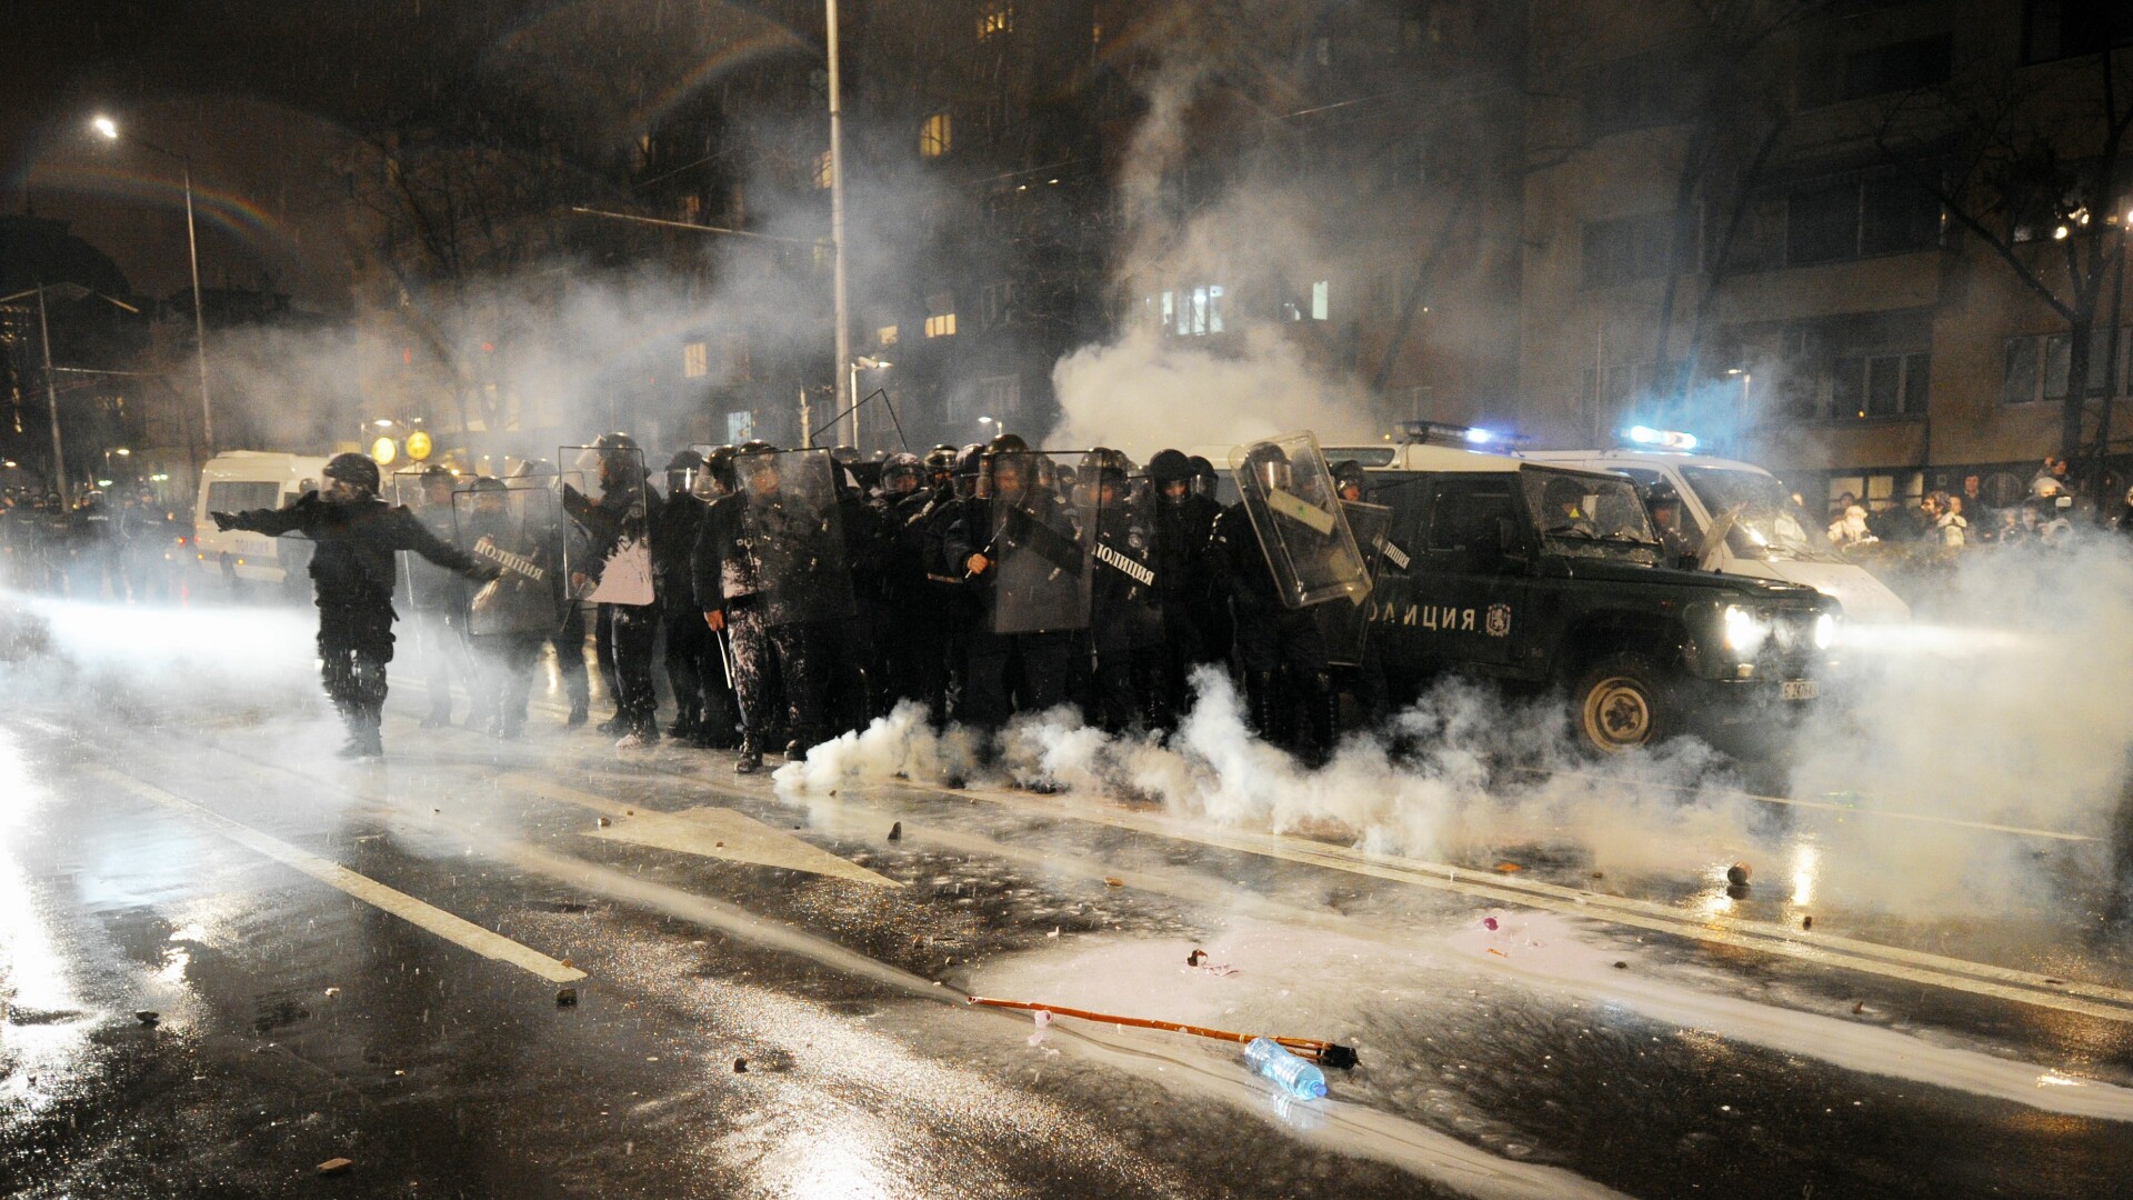
<svg viewBox="0 0 2133 1200">
<path fill-rule="evenodd" d="M 1049 455 L 988 455 L 981 491 L 990 498 L 992 632 L 1084 630 L 1090 613 L 1094 530 L 1090 512 L 1062 495 Z"/>
</svg>

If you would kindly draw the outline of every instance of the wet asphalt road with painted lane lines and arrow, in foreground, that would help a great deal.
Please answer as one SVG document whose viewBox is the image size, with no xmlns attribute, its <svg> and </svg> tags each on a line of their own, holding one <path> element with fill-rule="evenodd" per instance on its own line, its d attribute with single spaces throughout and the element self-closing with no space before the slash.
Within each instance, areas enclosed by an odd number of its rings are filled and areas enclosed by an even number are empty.
<svg viewBox="0 0 2133 1200">
<path fill-rule="evenodd" d="M 2133 1194 L 2133 963 L 2080 903 L 1800 931 L 1559 846 L 781 794 L 552 696 L 518 745 L 422 735 L 412 670 L 350 767 L 305 613 L 58 617 L 0 664 L 6 1196 Z M 966 993 L 1363 1065 L 1288 1104 L 1235 1046 Z"/>
</svg>

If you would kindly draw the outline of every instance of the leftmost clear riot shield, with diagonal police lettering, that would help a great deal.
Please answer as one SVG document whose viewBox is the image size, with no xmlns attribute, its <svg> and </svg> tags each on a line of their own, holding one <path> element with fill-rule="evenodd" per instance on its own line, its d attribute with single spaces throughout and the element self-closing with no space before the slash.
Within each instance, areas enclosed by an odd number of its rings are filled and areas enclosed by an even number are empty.
<svg viewBox="0 0 2133 1200">
<path fill-rule="evenodd" d="M 518 483 L 452 495 L 459 549 L 503 572 L 474 591 L 467 632 L 476 638 L 546 638 L 563 626 L 563 510 L 555 491 Z"/>
</svg>

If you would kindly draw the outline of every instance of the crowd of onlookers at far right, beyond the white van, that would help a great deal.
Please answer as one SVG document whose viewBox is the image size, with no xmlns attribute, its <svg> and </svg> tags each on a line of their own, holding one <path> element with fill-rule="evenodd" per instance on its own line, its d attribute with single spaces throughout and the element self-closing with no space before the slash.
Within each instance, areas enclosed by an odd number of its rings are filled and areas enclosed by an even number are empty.
<svg viewBox="0 0 2133 1200">
<path fill-rule="evenodd" d="M 2114 525 L 2133 536 L 2133 493 L 2118 508 L 2110 506 L 2099 521 L 2099 504 L 2086 495 L 2067 459 L 2052 455 L 2022 495 L 2001 504 L 1986 498 L 1975 474 L 1962 476 L 1960 491 L 1928 491 L 1915 506 L 1869 506 L 1845 491 L 1830 504 L 1828 536 L 1839 547 L 1894 542 L 1939 549 L 2058 544 L 2073 536 L 2075 525 Z"/>
</svg>

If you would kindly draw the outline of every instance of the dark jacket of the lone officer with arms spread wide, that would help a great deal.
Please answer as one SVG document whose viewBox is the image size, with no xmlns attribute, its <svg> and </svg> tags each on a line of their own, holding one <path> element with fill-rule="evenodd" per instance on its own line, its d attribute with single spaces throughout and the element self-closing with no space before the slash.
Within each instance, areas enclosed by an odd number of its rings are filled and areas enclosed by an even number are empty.
<svg viewBox="0 0 2133 1200">
<path fill-rule="evenodd" d="M 311 587 L 320 609 L 380 606 L 390 611 L 392 555 L 399 551 L 418 553 L 469 579 L 497 574 L 497 568 L 439 540 L 422 527 L 414 512 L 395 508 L 375 495 L 352 504 L 326 504 L 316 491 L 305 491 L 286 508 L 252 508 L 232 517 L 232 530 L 267 536 L 305 534 L 316 542 Z"/>
</svg>

